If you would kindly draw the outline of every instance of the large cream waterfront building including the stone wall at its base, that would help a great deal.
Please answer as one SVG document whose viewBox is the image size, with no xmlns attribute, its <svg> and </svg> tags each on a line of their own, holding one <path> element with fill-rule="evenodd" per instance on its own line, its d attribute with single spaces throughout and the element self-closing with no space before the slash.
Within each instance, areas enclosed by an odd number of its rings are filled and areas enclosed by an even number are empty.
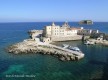
<svg viewBox="0 0 108 80">
<path fill-rule="evenodd" d="M 62 26 L 52 23 L 50 26 L 45 26 L 43 30 L 43 41 L 71 40 L 72 38 L 78 36 L 77 32 L 81 29 L 83 29 L 83 27 L 70 27 L 67 22 L 65 22 Z"/>
</svg>

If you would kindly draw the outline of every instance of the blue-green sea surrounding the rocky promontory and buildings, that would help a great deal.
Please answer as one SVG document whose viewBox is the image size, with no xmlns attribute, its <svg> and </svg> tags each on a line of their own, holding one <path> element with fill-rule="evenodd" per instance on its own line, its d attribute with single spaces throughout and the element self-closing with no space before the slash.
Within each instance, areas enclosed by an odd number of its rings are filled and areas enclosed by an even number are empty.
<svg viewBox="0 0 108 80">
<path fill-rule="evenodd" d="M 55 22 L 62 25 L 64 22 Z M 57 57 L 41 54 L 19 54 L 7 52 L 7 47 L 28 39 L 28 31 L 43 29 L 52 22 L 0 23 L 0 80 L 108 80 L 108 47 L 84 45 L 82 41 L 56 42 L 81 49 L 85 57 L 79 61 L 60 61 Z M 93 25 L 70 26 L 98 29 L 108 34 L 108 22 L 94 22 Z"/>
</svg>

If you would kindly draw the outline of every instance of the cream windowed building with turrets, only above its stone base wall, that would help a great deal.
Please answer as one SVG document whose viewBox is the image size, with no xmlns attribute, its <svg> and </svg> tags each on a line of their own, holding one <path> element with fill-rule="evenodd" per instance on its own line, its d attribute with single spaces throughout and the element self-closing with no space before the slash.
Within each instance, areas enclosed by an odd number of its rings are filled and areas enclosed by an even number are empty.
<svg viewBox="0 0 108 80">
<path fill-rule="evenodd" d="M 77 35 L 78 30 L 83 28 L 70 27 L 67 22 L 62 26 L 55 25 L 52 23 L 50 26 L 45 26 L 43 34 L 45 37 L 67 37 Z"/>
</svg>

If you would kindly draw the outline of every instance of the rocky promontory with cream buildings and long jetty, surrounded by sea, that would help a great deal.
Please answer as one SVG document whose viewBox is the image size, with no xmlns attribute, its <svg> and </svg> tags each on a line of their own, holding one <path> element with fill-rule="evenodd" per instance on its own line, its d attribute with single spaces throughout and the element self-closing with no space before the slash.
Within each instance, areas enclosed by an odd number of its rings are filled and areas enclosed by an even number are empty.
<svg viewBox="0 0 108 80">
<path fill-rule="evenodd" d="M 83 27 L 73 27 L 65 22 L 62 26 L 45 26 L 43 30 L 30 30 L 29 39 L 13 44 L 7 48 L 9 53 L 28 54 L 40 53 L 58 57 L 62 61 L 75 61 L 84 57 L 80 50 L 73 50 L 68 47 L 61 47 L 52 44 L 57 41 L 82 40 L 84 34 L 99 33 L 98 30 L 84 29 Z"/>
</svg>

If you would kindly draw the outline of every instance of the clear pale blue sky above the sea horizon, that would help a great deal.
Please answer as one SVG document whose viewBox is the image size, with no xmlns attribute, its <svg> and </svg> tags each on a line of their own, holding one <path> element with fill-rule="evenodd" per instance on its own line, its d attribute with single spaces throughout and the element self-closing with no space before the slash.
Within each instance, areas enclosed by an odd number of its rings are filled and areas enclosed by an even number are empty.
<svg viewBox="0 0 108 80">
<path fill-rule="evenodd" d="M 108 0 L 0 0 L 0 22 L 108 21 Z"/>
</svg>

